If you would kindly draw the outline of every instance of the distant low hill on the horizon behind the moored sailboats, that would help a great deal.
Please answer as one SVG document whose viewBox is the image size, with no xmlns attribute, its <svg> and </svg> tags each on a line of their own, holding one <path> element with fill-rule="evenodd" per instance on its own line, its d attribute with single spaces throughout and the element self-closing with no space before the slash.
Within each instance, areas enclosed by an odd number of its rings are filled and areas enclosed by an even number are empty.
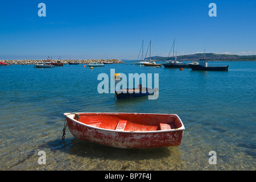
<svg viewBox="0 0 256 182">
<path fill-rule="evenodd" d="M 177 56 L 177 60 L 181 61 L 197 61 L 199 59 L 208 59 L 209 61 L 256 61 L 256 55 L 250 56 L 239 56 L 239 55 L 225 55 L 225 54 L 217 54 L 217 53 L 195 53 L 192 55 L 182 55 Z M 149 59 L 149 57 L 147 57 Z M 167 60 L 175 60 L 175 57 L 161 57 L 154 56 L 151 57 L 151 60 L 158 61 L 167 61 Z"/>
</svg>

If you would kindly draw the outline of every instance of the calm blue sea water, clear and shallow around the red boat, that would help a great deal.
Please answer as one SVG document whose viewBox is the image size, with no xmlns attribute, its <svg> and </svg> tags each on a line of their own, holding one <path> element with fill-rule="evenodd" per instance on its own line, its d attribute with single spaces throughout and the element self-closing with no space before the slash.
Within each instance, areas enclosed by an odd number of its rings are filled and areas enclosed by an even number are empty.
<svg viewBox="0 0 256 182">
<path fill-rule="evenodd" d="M 228 72 L 123 64 L 0 67 L 1 171 L 255 171 L 256 61 L 221 61 Z M 159 95 L 117 100 L 101 73 L 158 75 Z M 128 81 L 127 81 L 128 82 Z M 117 84 L 117 81 L 115 81 Z M 154 84 L 152 85 L 154 86 Z M 128 86 L 127 86 L 128 87 Z M 76 139 L 63 113 L 177 114 L 180 146 L 123 149 Z"/>
</svg>

